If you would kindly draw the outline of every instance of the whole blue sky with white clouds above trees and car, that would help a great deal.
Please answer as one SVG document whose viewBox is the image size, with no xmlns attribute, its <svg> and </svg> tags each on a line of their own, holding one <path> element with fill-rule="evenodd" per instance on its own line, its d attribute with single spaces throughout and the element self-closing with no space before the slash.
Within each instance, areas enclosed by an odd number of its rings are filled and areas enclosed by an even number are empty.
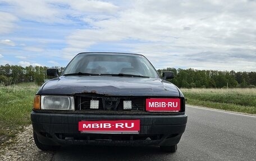
<svg viewBox="0 0 256 161">
<path fill-rule="evenodd" d="M 156 69 L 256 71 L 256 1 L 0 0 L 0 65 L 139 53 Z"/>
</svg>

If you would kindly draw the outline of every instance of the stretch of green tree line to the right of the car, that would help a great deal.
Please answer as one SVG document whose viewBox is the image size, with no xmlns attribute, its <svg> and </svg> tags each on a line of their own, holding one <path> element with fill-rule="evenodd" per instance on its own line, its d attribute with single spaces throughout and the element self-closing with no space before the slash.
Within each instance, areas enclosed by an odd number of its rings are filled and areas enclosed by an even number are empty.
<svg viewBox="0 0 256 161">
<path fill-rule="evenodd" d="M 189 68 L 164 68 L 158 70 L 172 71 L 174 79 L 168 80 L 179 88 L 255 88 L 256 72 L 235 72 L 215 70 L 194 70 Z"/>
</svg>

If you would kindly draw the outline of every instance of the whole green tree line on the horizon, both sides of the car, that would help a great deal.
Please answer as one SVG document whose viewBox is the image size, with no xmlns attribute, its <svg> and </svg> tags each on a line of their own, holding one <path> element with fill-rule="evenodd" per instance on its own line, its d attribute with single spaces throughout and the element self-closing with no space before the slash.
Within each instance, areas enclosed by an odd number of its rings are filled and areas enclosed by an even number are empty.
<svg viewBox="0 0 256 161">
<path fill-rule="evenodd" d="M 0 85 L 20 82 L 36 82 L 36 84 L 42 85 L 47 79 L 47 68 L 45 66 L 1 65 Z M 64 70 L 64 67 L 52 68 L 58 68 L 60 73 Z M 256 72 L 164 68 L 158 70 L 159 75 L 162 75 L 163 71 L 174 73 L 174 79 L 168 81 L 179 88 L 256 88 Z"/>
</svg>

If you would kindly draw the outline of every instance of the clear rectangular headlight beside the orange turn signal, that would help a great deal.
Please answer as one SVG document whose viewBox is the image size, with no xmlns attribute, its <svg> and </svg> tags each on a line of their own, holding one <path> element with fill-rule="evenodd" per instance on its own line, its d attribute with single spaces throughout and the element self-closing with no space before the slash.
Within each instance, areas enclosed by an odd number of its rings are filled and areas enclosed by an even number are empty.
<svg viewBox="0 0 256 161">
<path fill-rule="evenodd" d="M 41 109 L 75 110 L 72 96 L 41 96 Z"/>
</svg>

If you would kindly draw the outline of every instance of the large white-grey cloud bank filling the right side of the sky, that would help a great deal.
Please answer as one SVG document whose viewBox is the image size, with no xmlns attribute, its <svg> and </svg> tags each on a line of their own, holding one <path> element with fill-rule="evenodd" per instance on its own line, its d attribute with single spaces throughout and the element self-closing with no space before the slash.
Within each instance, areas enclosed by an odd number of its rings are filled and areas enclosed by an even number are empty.
<svg viewBox="0 0 256 161">
<path fill-rule="evenodd" d="M 72 52 L 112 43 L 125 47 L 123 52 L 147 53 L 154 60 L 172 62 L 163 66 L 154 61 L 159 67 L 203 66 L 226 70 L 235 67 L 231 65 L 233 62 L 245 67 L 241 63 L 247 61 L 246 68 L 256 70 L 256 58 L 246 56 L 256 53 L 253 8 L 256 3 L 247 1 L 135 1 L 131 8 L 108 19 L 86 17 L 84 20 L 91 27 L 67 36 L 67 48 Z M 231 52 L 234 48 L 240 49 L 243 62 L 233 59 L 238 54 Z M 219 63 L 212 66 L 214 62 Z"/>
</svg>

